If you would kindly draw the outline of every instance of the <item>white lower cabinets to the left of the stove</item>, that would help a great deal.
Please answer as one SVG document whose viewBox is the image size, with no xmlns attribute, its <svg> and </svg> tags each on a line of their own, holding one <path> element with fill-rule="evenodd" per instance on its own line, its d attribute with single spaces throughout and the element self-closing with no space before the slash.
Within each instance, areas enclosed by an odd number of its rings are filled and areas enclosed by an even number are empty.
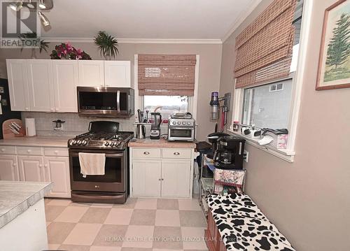
<svg viewBox="0 0 350 251">
<path fill-rule="evenodd" d="M 45 196 L 70 198 L 68 149 L 1 146 L 0 180 L 53 182 Z"/>
</svg>

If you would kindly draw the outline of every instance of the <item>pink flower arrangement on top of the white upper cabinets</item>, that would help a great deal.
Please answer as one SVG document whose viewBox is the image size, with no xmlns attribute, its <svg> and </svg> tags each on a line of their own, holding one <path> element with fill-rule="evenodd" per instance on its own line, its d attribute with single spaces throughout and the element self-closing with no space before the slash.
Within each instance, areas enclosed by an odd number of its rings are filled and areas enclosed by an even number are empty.
<svg viewBox="0 0 350 251">
<path fill-rule="evenodd" d="M 80 49 L 74 48 L 70 43 L 61 43 L 60 45 L 56 45 L 55 50 L 52 50 L 50 57 L 51 59 L 91 60 L 90 55 Z"/>
</svg>

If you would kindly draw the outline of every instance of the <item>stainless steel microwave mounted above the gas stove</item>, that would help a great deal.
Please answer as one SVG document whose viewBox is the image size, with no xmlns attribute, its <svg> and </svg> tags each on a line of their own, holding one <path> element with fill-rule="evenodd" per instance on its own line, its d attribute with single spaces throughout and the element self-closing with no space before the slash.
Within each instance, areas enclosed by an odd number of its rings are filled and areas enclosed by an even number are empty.
<svg viewBox="0 0 350 251">
<path fill-rule="evenodd" d="M 118 87 L 77 87 L 78 115 L 84 117 L 131 117 L 134 89 Z"/>
</svg>

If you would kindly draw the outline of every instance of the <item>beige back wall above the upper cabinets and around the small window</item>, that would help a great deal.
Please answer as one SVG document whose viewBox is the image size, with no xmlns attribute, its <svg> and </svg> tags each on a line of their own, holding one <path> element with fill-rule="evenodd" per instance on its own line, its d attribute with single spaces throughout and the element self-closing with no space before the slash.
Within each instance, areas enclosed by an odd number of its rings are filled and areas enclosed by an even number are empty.
<svg viewBox="0 0 350 251">
<path fill-rule="evenodd" d="M 50 50 L 57 43 L 50 44 Z M 96 46 L 92 43 L 72 43 L 73 46 L 81 48 L 90 54 L 92 59 L 101 59 Z M 211 92 L 218 91 L 221 76 L 221 44 L 156 44 L 156 43 L 120 43 L 119 60 L 130 60 L 134 62 L 134 55 L 141 53 L 159 53 L 159 54 L 196 54 L 200 55 L 200 76 L 198 88 L 197 103 L 197 128 L 196 136 L 198 140 L 205 140 L 207 135 L 214 131 L 214 123 L 209 122 L 209 101 Z M 48 50 L 50 52 L 50 50 Z M 50 53 L 43 52 L 38 58 L 50 58 Z M 1 63 L 8 58 L 29 58 L 30 50 L 24 50 L 20 53 L 17 49 L 0 49 L 0 67 Z M 1 71 L 0 71 L 1 72 Z M 132 69 L 132 81 L 134 71 Z"/>
</svg>

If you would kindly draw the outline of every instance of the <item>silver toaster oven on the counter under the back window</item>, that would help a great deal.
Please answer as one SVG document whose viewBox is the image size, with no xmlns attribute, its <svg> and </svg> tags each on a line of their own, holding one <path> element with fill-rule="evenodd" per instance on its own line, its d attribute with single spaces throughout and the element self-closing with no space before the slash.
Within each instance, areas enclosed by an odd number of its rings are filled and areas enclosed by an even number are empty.
<svg viewBox="0 0 350 251">
<path fill-rule="evenodd" d="M 195 141 L 195 120 L 190 113 L 175 113 L 168 121 L 168 141 Z"/>
</svg>

